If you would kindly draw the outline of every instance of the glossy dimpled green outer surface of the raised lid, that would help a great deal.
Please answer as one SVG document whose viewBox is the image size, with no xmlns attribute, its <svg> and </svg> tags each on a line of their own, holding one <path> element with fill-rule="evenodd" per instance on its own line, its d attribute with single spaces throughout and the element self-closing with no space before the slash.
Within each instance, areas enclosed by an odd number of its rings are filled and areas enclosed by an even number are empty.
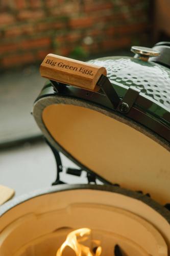
<svg viewBox="0 0 170 256">
<path fill-rule="evenodd" d="M 124 88 L 135 86 L 142 94 L 167 110 L 170 110 L 170 70 L 154 62 L 132 57 L 107 57 L 91 60 L 107 69 L 112 83 Z M 147 97 L 147 98 L 148 98 Z"/>
</svg>

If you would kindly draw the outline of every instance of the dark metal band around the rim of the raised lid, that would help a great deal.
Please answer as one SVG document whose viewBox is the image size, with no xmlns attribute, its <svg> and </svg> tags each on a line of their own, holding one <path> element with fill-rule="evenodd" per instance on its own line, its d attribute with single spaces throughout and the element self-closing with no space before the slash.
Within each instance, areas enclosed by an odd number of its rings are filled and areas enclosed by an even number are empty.
<svg viewBox="0 0 170 256">
<path fill-rule="evenodd" d="M 60 84 L 56 84 L 55 86 L 55 90 L 53 90 L 54 85 L 53 87 L 45 86 L 37 100 L 44 96 L 54 96 L 56 94 L 62 95 L 64 97 L 78 98 L 85 101 L 90 101 L 92 103 L 99 104 L 104 108 L 124 114 L 122 111 L 117 111 L 117 109 L 113 107 L 113 104 L 110 100 L 108 100 L 108 96 L 106 96 L 106 94 L 102 94 L 101 92 L 91 92 L 88 90 L 67 86 L 66 84 L 65 86 L 64 84 L 62 84 L 62 86 Z M 167 112 L 166 116 L 160 119 L 158 119 L 156 116 L 154 117 L 152 113 L 149 114 L 148 109 L 150 108 L 152 101 L 143 97 L 141 94 L 138 95 L 134 103 L 135 104 L 133 104 L 131 109 L 129 109 L 129 112 L 125 113 L 124 116 L 136 121 L 141 125 L 144 125 L 150 131 L 165 139 L 167 143 L 170 143 L 170 127 L 168 124 L 166 124 L 170 118 L 170 113 Z M 143 108 L 145 107 L 145 110 L 139 108 L 138 106 L 143 106 Z"/>
</svg>

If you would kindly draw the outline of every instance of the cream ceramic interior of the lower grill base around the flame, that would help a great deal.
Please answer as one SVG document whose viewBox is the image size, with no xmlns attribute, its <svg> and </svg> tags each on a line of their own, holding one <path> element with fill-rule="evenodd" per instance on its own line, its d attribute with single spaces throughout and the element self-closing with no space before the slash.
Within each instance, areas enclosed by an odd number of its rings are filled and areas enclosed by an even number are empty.
<svg viewBox="0 0 170 256">
<path fill-rule="evenodd" d="M 55 256 L 68 232 L 82 227 L 92 229 L 85 245 L 100 240 L 102 255 L 112 256 L 116 244 L 127 256 L 167 256 L 170 248 L 168 222 L 147 204 L 76 189 L 32 198 L 7 211 L 0 218 L 0 255 Z"/>
</svg>

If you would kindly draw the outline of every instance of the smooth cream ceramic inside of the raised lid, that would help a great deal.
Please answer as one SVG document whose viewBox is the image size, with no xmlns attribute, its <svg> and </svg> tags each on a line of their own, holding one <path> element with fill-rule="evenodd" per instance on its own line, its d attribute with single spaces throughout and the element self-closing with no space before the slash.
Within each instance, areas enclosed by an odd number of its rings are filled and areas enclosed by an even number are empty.
<svg viewBox="0 0 170 256">
<path fill-rule="evenodd" d="M 105 180 L 150 193 L 161 204 L 170 202 L 169 152 L 133 127 L 108 116 L 110 113 L 78 104 L 50 104 L 43 109 L 42 121 L 52 138 Z M 48 137 L 46 131 L 43 133 Z M 55 146 L 54 141 L 51 143 Z"/>
</svg>

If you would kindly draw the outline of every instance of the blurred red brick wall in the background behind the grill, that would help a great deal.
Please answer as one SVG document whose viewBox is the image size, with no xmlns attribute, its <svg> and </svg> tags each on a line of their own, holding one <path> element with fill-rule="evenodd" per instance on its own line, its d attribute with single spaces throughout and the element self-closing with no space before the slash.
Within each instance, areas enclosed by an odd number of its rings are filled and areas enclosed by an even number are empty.
<svg viewBox="0 0 170 256">
<path fill-rule="evenodd" d="M 127 48 L 147 38 L 148 0 L 1 0 L 0 67 Z"/>
</svg>

